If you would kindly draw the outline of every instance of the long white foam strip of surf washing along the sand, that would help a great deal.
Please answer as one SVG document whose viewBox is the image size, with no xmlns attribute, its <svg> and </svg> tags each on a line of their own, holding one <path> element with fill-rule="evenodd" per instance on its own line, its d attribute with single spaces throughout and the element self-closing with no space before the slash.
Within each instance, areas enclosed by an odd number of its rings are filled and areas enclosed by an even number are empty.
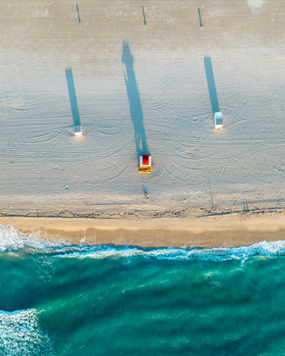
<svg viewBox="0 0 285 356">
<path fill-rule="evenodd" d="M 0 225 L 0 251 L 18 251 L 32 249 L 35 253 L 48 253 L 57 257 L 74 258 L 121 258 L 145 257 L 169 259 L 173 261 L 212 261 L 220 262 L 231 259 L 244 260 L 256 255 L 268 257 L 283 257 L 285 255 L 285 240 L 274 242 L 262 241 L 249 246 L 214 247 L 212 249 L 179 249 L 165 247 L 158 249 L 138 249 L 132 246 L 93 246 L 86 244 L 68 245 L 63 242 L 40 240 L 35 236 L 25 236 L 11 225 Z"/>
</svg>

